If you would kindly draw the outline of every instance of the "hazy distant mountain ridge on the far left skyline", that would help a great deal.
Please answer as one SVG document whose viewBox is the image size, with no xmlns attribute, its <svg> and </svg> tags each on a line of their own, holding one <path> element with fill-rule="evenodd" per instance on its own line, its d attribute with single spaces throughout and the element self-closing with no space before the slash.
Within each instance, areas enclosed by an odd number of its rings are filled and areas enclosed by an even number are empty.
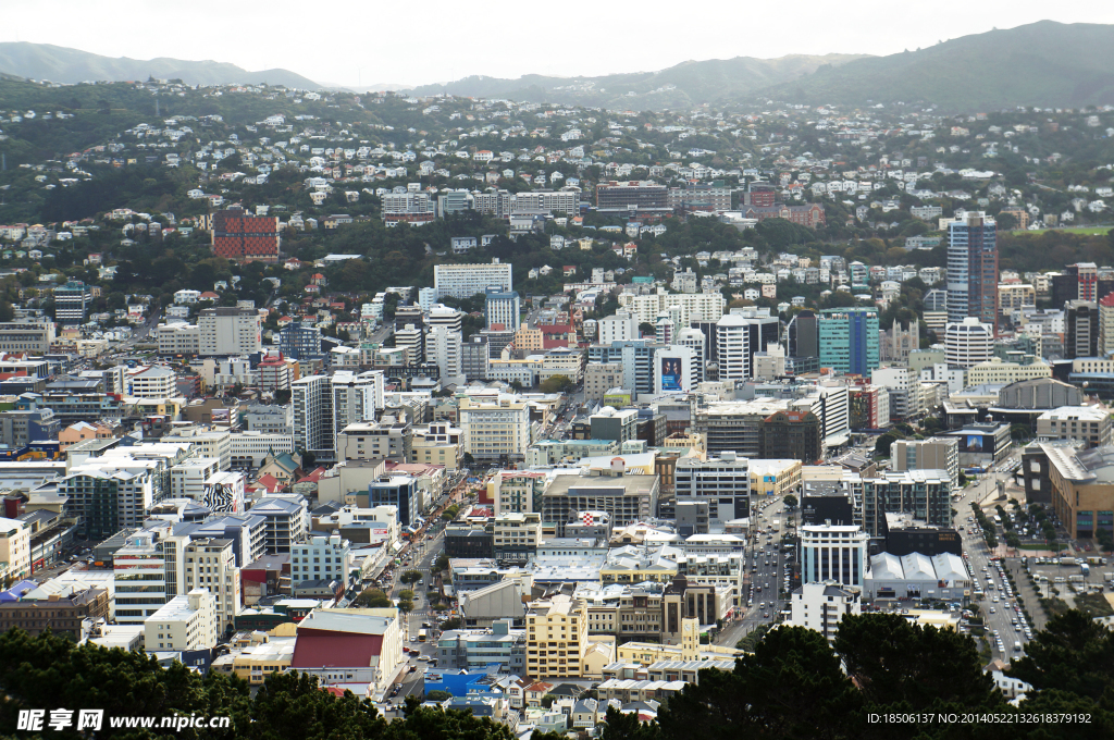
<svg viewBox="0 0 1114 740">
<path fill-rule="evenodd" d="M 0 43 L 0 72 L 52 82 L 180 79 L 189 85 L 284 85 L 316 90 L 323 86 L 286 69 L 247 71 L 219 61 L 183 59 L 128 59 L 101 57 L 50 43 Z"/>
</svg>

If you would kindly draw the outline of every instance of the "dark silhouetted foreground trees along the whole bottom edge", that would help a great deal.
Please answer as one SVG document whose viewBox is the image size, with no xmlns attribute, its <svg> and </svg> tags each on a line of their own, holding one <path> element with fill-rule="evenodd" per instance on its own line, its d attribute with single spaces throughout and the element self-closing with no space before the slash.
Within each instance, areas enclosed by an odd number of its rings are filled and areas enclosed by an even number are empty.
<svg viewBox="0 0 1114 740">
<path fill-rule="evenodd" d="M 1008 671 L 1032 685 L 1017 705 L 983 670 L 973 637 L 920 627 L 900 614 L 844 617 L 834 643 L 804 627 L 770 631 L 732 671 L 706 669 L 661 707 L 657 720 L 608 712 L 604 740 L 739 738 L 998 739 L 1114 737 L 1114 633 L 1077 611 L 1048 622 Z M 0 636 L 0 733 L 21 709 L 104 709 L 106 715 L 227 715 L 226 730 L 178 738 L 260 740 L 511 740 L 489 719 L 420 709 L 388 722 L 367 700 L 322 691 L 316 679 L 270 676 L 253 695 L 235 676 L 205 678 L 149 655 L 75 646 L 49 633 Z M 590 693 L 590 692 L 588 692 Z M 927 719 L 927 718 L 934 719 Z M 974 719 L 971 719 L 974 718 Z M 43 733 L 77 738 L 72 730 Z M 19 737 L 29 737 L 21 733 Z M 31 736 L 33 737 L 33 736 Z M 172 737 L 106 728 L 98 738 Z M 535 732 L 534 740 L 564 736 Z"/>
</svg>

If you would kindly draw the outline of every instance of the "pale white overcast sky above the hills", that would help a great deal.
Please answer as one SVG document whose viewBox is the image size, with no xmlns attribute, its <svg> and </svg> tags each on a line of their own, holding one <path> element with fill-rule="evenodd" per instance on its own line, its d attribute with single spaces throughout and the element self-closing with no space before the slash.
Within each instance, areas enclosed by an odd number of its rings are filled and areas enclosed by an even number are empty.
<svg viewBox="0 0 1114 740">
<path fill-rule="evenodd" d="M 1114 2 L 0 0 L 0 41 L 283 67 L 319 82 L 421 85 L 656 70 L 687 59 L 886 55 L 1046 19 L 1114 23 Z"/>
</svg>

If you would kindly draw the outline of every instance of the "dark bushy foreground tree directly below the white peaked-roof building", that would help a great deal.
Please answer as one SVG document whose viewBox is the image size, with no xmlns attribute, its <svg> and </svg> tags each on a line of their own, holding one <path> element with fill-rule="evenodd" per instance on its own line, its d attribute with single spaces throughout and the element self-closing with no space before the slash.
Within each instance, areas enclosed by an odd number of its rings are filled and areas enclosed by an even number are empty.
<svg viewBox="0 0 1114 740">
<path fill-rule="evenodd" d="M 1003 702 L 975 641 L 954 630 L 913 625 L 901 614 L 849 615 L 834 648 L 868 705 L 924 711 L 938 701 L 965 708 Z"/>
</svg>

